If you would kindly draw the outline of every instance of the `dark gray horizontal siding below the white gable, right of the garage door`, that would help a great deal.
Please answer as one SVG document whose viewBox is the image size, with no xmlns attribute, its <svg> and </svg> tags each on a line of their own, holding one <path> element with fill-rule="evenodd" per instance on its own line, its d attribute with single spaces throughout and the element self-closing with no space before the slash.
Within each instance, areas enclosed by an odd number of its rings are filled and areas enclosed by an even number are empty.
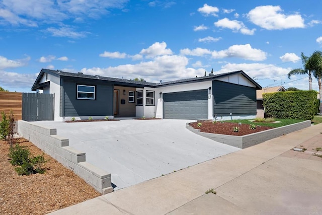
<svg viewBox="0 0 322 215">
<path fill-rule="evenodd" d="M 213 81 L 212 89 L 217 117 L 256 115 L 256 88 Z"/>
</svg>

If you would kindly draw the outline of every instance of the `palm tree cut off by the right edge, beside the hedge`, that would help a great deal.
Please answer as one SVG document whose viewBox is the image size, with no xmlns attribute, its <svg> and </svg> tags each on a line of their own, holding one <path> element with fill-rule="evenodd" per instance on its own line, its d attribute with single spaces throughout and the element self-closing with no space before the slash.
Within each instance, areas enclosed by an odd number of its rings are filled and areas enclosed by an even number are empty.
<svg viewBox="0 0 322 215">
<path fill-rule="evenodd" d="M 314 51 L 313 54 L 308 58 L 307 64 L 313 69 L 313 76 L 317 79 L 318 90 L 320 96 L 320 114 L 322 114 L 322 52 Z"/>
</svg>

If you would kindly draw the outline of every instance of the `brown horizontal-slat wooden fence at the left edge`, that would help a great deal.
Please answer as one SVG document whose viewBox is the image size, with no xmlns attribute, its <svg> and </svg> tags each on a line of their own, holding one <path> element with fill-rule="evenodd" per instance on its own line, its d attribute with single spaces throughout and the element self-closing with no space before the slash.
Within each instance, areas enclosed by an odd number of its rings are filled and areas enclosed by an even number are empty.
<svg viewBox="0 0 322 215">
<path fill-rule="evenodd" d="M 16 120 L 22 119 L 22 93 L 0 92 L 0 112 L 9 114 L 10 110 L 14 112 Z"/>
</svg>

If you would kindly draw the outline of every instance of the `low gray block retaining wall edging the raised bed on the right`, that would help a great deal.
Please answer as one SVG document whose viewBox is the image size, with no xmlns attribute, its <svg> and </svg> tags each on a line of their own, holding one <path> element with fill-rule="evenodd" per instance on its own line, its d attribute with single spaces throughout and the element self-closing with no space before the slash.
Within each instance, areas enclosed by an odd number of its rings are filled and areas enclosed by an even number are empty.
<svg viewBox="0 0 322 215">
<path fill-rule="evenodd" d="M 189 125 L 189 123 L 186 124 L 186 128 L 188 128 L 194 133 L 197 133 L 209 139 L 213 139 L 217 142 L 221 142 L 222 144 L 227 144 L 229 146 L 237 147 L 240 149 L 245 149 L 245 148 L 260 144 L 261 142 L 265 142 L 269 139 L 273 139 L 273 138 L 282 136 L 283 134 L 288 134 L 309 126 L 311 126 L 311 120 L 306 120 L 304 122 L 285 125 L 278 128 L 272 128 L 269 130 L 247 134 L 244 136 L 233 136 L 233 135 L 200 132 L 199 129 L 194 129 L 192 126 Z"/>
</svg>

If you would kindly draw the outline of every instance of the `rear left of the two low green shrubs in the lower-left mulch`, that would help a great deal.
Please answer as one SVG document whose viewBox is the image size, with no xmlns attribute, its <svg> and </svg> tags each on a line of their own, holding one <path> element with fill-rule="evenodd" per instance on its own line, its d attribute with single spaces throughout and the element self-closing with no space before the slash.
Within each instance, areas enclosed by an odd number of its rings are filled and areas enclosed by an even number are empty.
<svg viewBox="0 0 322 215">
<path fill-rule="evenodd" d="M 19 144 L 16 144 L 14 147 L 9 149 L 9 158 L 12 160 L 10 163 L 14 166 L 23 165 L 25 162 L 29 161 L 30 151 L 26 147 L 22 147 Z"/>
</svg>

